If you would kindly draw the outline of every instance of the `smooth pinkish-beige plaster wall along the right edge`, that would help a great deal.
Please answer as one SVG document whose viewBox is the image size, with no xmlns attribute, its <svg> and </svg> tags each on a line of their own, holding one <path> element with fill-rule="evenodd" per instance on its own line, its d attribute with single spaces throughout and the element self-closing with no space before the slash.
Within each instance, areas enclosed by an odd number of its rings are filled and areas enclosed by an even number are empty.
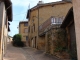
<svg viewBox="0 0 80 60">
<path fill-rule="evenodd" d="M 75 32 L 76 32 L 77 55 L 78 55 L 78 60 L 80 60 L 80 13 L 79 13 L 80 0 L 72 0 L 72 2 L 73 2 Z"/>
</svg>

